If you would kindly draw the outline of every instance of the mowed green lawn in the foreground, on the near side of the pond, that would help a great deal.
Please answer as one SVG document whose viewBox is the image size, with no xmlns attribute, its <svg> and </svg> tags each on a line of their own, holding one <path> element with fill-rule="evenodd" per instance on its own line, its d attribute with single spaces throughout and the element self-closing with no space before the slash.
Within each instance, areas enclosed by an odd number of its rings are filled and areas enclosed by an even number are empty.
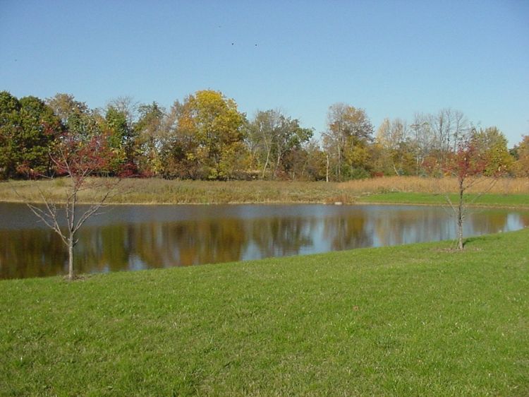
<svg viewBox="0 0 529 397">
<path fill-rule="evenodd" d="M 528 396 L 528 241 L 0 281 L 0 394 Z"/>
</svg>

